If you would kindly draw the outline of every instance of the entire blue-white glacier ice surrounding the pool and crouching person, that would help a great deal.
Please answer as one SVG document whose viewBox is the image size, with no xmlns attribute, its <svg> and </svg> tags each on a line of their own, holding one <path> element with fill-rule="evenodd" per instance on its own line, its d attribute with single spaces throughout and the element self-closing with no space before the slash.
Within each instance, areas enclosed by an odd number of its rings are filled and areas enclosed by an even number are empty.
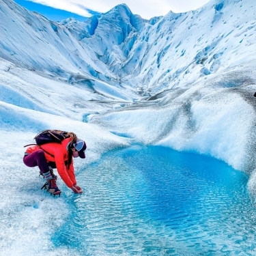
<svg viewBox="0 0 256 256">
<path fill-rule="evenodd" d="M 77 170 L 118 147 L 163 145 L 243 171 L 254 202 L 255 10 L 211 0 L 145 20 L 122 4 L 57 23 L 0 0 L 1 252 L 48 253 L 51 229 L 68 215 L 65 197 L 52 208 L 22 162 L 23 145 L 48 128 L 85 139 Z"/>
</svg>

